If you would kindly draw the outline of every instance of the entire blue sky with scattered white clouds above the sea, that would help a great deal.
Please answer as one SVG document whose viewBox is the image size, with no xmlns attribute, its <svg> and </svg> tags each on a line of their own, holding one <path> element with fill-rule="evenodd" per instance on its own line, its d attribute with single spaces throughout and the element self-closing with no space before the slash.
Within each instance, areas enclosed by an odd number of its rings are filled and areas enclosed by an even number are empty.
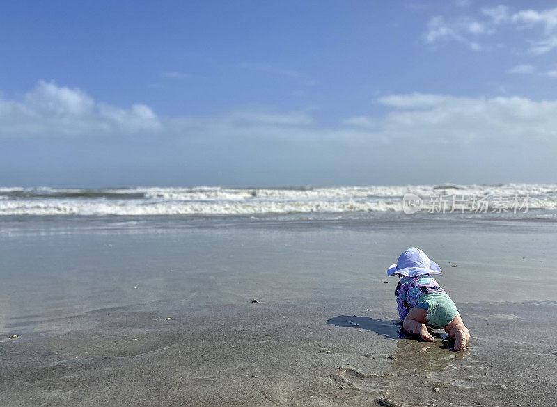
<svg viewBox="0 0 557 407">
<path fill-rule="evenodd" d="M 555 183 L 552 1 L 23 1 L 0 186 Z"/>
</svg>

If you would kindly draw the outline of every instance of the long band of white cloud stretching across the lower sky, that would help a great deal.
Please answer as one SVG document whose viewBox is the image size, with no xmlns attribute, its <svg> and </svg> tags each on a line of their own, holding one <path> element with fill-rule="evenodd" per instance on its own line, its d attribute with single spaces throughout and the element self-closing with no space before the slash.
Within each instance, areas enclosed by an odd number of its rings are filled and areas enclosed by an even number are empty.
<svg viewBox="0 0 557 407">
<path fill-rule="evenodd" d="M 544 151 L 548 146 L 557 148 L 557 100 L 411 93 L 386 95 L 377 102 L 387 109 L 386 114 L 349 117 L 327 128 L 308 113 L 269 109 L 237 109 L 210 117 L 159 116 L 143 104 L 123 109 L 96 102 L 79 89 L 40 82 L 22 101 L 0 99 L 0 137 L 149 134 L 214 145 L 274 140 L 399 145 L 405 150 L 417 145 L 476 143 L 498 148 L 542 145 Z"/>
</svg>

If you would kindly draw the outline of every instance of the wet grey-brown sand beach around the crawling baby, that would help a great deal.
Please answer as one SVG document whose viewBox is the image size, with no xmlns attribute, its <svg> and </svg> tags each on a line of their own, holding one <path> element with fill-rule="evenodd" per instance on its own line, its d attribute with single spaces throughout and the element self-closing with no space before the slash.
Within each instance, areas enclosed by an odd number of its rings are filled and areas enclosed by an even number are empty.
<svg viewBox="0 0 557 407">
<path fill-rule="evenodd" d="M 554 223 L 2 227 L 3 406 L 557 404 Z M 465 351 L 400 333 L 386 267 L 408 246 L 443 269 Z"/>
</svg>

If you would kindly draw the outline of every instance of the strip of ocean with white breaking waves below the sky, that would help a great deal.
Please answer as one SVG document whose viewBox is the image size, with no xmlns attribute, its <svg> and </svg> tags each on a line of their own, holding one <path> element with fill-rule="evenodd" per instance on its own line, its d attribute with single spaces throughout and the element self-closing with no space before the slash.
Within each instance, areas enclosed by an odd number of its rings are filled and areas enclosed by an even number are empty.
<svg viewBox="0 0 557 407">
<path fill-rule="evenodd" d="M 414 205 L 414 206 L 409 206 Z M 556 184 L 284 188 L 0 187 L 0 216 L 505 216 L 554 218 Z"/>
</svg>

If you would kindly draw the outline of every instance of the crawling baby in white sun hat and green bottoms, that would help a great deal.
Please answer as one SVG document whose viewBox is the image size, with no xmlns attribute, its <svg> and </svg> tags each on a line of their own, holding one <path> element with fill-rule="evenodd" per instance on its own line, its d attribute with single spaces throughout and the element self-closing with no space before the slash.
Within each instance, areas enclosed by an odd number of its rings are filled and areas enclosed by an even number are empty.
<svg viewBox="0 0 557 407">
<path fill-rule="evenodd" d="M 398 274 L 396 287 L 398 314 L 402 328 L 432 341 L 425 324 L 443 328 L 455 340 L 455 351 L 464 349 L 470 339 L 453 300 L 431 274 L 441 274 L 441 269 L 422 250 L 411 247 L 398 257 L 398 262 L 387 270 L 387 276 Z"/>
</svg>

